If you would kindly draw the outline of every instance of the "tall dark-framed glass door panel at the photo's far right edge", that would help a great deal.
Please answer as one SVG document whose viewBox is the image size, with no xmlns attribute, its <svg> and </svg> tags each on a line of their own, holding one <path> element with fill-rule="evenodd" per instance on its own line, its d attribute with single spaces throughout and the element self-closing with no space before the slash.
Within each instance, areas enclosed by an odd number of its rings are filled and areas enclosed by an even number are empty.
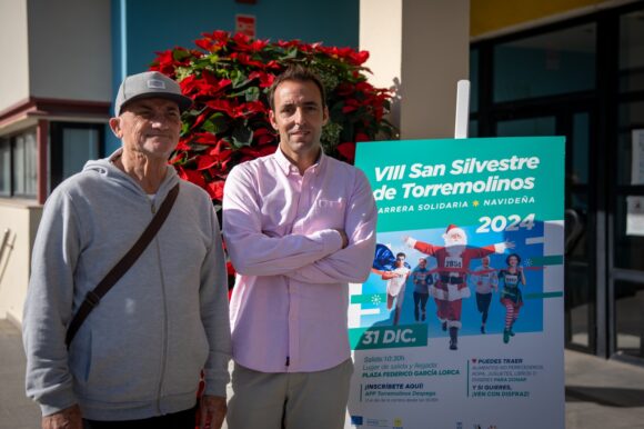
<svg viewBox="0 0 644 429">
<path fill-rule="evenodd" d="M 611 352 L 644 358 L 644 9 L 620 17 Z"/>
</svg>

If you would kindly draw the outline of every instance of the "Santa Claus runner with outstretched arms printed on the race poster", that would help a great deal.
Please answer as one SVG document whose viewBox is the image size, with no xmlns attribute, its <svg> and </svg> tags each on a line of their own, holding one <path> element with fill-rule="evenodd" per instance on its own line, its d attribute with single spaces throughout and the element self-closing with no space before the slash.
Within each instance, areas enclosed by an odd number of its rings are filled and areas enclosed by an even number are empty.
<svg viewBox="0 0 644 429">
<path fill-rule="evenodd" d="M 430 293 L 436 302 L 436 316 L 443 330 L 450 330 L 450 349 L 456 350 L 462 300 L 471 295 L 467 287 L 470 261 L 491 253 L 503 253 L 506 249 L 514 248 L 514 243 L 504 241 L 485 247 L 467 247 L 465 231 L 454 225 L 447 227 L 443 240 L 445 246 L 433 246 L 411 237 L 403 237 L 409 247 L 436 259 L 437 268 L 434 272 L 439 276 L 437 281 L 431 286 Z"/>
</svg>

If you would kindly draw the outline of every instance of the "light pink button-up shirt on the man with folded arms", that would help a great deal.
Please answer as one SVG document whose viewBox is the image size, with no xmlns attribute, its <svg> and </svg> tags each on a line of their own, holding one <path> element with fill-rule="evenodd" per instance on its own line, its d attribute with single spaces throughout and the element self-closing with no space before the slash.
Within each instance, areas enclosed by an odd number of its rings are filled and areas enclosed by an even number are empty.
<svg viewBox="0 0 644 429">
<path fill-rule="evenodd" d="M 308 372 L 350 357 L 349 282 L 369 276 L 376 209 L 362 171 L 321 154 L 304 174 L 274 154 L 227 179 L 223 232 L 238 271 L 233 358 L 263 372 Z M 343 229 L 349 246 L 342 249 Z"/>
</svg>

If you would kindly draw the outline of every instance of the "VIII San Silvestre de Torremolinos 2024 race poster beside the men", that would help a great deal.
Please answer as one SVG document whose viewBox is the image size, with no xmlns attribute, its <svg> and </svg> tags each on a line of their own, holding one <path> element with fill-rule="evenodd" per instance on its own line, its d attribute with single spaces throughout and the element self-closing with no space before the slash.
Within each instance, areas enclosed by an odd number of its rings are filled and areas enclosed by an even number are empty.
<svg viewBox="0 0 644 429">
<path fill-rule="evenodd" d="M 564 138 L 368 142 L 355 164 L 379 246 L 350 287 L 345 427 L 563 428 Z"/>
</svg>

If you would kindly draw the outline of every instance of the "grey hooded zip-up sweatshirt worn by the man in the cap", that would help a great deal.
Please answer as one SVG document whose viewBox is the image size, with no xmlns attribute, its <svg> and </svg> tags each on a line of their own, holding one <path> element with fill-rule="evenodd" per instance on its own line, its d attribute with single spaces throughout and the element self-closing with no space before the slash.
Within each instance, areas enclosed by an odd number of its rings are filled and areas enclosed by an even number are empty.
<svg viewBox="0 0 644 429">
<path fill-rule="evenodd" d="M 23 319 L 27 395 L 43 416 L 74 403 L 92 420 L 185 410 L 195 403 L 202 369 L 205 393 L 225 397 L 231 341 L 220 229 L 207 192 L 187 181 L 157 237 L 85 319 L 69 351 L 64 345 L 85 293 L 179 181 L 168 167 L 150 198 L 103 159 L 49 197 Z"/>
</svg>

